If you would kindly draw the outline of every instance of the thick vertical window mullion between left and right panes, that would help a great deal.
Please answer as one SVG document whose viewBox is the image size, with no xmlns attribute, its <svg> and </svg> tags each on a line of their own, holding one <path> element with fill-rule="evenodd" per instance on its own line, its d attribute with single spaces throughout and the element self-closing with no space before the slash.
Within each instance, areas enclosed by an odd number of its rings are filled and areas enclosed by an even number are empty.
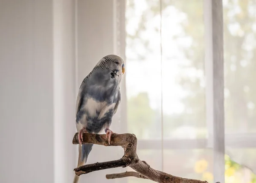
<svg viewBox="0 0 256 183">
<path fill-rule="evenodd" d="M 224 58 L 222 0 L 204 0 L 208 145 L 213 147 L 214 182 L 224 183 Z"/>
</svg>

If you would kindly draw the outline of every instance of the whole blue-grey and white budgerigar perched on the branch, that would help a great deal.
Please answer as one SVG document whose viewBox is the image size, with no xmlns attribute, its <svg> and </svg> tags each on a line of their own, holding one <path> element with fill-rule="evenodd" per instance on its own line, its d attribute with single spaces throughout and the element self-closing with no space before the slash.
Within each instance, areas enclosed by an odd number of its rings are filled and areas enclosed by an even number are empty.
<svg viewBox="0 0 256 183">
<path fill-rule="evenodd" d="M 84 78 L 76 100 L 76 129 L 79 132 L 79 158 L 77 166 L 86 163 L 93 144 L 81 144 L 83 133 L 99 134 L 105 130 L 111 141 L 110 125 L 121 100 L 119 85 L 125 72 L 125 63 L 117 55 L 102 58 Z M 77 183 L 79 176 L 74 177 Z"/>
</svg>

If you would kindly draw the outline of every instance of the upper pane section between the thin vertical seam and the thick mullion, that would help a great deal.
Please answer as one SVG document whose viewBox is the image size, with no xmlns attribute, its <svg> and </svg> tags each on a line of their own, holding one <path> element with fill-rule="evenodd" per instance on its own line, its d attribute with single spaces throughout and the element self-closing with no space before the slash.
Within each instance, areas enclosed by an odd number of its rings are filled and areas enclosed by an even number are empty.
<svg viewBox="0 0 256 183">
<path fill-rule="evenodd" d="M 207 134 L 203 0 L 163 1 L 164 138 Z"/>
</svg>

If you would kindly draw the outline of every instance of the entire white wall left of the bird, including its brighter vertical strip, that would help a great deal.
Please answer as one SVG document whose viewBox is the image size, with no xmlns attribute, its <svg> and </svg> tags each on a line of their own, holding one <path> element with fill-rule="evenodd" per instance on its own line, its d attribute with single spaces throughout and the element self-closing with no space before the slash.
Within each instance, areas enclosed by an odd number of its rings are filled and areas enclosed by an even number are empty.
<svg viewBox="0 0 256 183">
<path fill-rule="evenodd" d="M 74 1 L 0 1 L 0 183 L 70 183 Z"/>
</svg>

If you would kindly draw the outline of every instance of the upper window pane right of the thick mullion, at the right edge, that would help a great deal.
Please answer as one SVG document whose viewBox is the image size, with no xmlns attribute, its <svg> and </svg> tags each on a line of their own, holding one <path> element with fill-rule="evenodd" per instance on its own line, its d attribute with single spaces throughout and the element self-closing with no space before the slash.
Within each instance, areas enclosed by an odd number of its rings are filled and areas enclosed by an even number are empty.
<svg viewBox="0 0 256 183">
<path fill-rule="evenodd" d="M 256 133 L 256 0 L 224 0 L 225 130 Z"/>
</svg>

